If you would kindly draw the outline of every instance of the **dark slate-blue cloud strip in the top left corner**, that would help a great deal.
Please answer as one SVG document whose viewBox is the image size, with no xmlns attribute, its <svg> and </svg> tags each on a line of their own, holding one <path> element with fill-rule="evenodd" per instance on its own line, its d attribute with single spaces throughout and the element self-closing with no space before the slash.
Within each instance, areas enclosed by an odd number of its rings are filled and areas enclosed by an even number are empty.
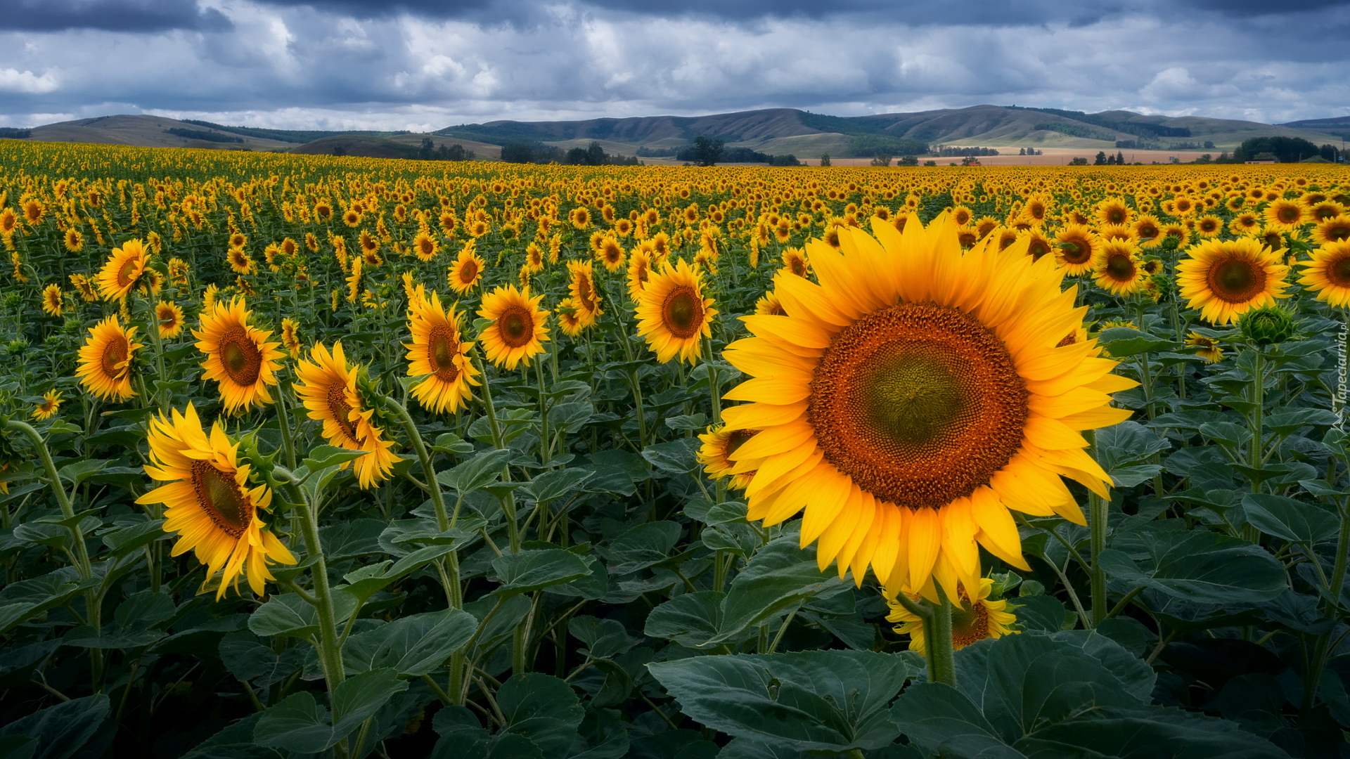
<svg viewBox="0 0 1350 759">
<path fill-rule="evenodd" d="M 0 30 L 223 31 L 230 20 L 182 0 L 0 0 Z"/>
</svg>

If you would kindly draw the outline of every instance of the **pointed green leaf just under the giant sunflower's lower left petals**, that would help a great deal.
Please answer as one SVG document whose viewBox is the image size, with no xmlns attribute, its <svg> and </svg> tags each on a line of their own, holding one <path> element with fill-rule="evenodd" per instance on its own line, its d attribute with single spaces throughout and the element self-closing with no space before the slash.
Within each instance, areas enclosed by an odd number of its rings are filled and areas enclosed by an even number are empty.
<svg viewBox="0 0 1350 759">
<path fill-rule="evenodd" d="M 722 627 L 707 644 L 736 637 L 787 608 L 809 598 L 829 598 L 852 583 L 815 566 L 815 551 L 803 551 L 795 536 L 784 536 L 760 548 L 741 570 L 722 604 Z"/>
</svg>

